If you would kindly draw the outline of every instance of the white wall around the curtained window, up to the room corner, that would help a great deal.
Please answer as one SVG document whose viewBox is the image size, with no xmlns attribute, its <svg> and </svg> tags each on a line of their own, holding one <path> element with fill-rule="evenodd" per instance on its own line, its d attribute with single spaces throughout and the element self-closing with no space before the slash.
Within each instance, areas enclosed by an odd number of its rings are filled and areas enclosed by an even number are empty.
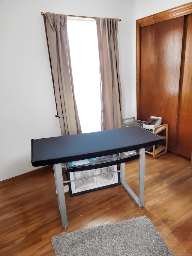
<svg viewBox="0 0 192 256">
<path fill-rule="evenodd" d="M 1 0 L 0 180 L 36 169 L 30 161 L 31 139 L 61 135 L 41 11 L 121 18 L 123 115 L 136 113 L 132 0 Z"/>
</svg>

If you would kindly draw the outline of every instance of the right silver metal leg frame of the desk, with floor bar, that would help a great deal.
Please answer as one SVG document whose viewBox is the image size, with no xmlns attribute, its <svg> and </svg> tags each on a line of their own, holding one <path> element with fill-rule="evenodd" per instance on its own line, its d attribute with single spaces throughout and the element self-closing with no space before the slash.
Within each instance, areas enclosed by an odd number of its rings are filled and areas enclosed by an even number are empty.
<svg viewBox="0 0 192 256">
<path fill-rule="evenodd" d="M 139 207 L 144 206 L 145 148 L 139 150 L 139 197 L 125 182 L 125 163 L 121 164 L 121 183 Z"/>
</svg>

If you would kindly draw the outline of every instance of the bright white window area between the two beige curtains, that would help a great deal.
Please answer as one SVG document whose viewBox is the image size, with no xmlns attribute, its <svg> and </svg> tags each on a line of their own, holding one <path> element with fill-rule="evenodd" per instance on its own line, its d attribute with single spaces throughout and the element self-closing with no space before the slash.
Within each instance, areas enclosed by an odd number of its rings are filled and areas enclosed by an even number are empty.
<svg viewBox="0 0 192 256">
<path fill-rule="evenodd" d="M 82 133 L 101 131 L 101 85 L 96 21 L 67 17 L 67 31 Z"/>
</svg>

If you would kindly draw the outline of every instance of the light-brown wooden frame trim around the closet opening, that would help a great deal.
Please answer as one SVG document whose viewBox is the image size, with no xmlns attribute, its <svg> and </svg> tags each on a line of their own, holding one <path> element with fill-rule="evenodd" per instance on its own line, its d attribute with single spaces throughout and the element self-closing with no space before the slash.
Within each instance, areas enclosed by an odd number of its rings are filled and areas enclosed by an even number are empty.
<svg viewBox="0 0 192 256">
<path fill-rule="evenodd" d="M 136 20 L 137 119 L 140 119 L 140 49 L 141 28 L 192 13 L 192 2 Z"/>
</svg>

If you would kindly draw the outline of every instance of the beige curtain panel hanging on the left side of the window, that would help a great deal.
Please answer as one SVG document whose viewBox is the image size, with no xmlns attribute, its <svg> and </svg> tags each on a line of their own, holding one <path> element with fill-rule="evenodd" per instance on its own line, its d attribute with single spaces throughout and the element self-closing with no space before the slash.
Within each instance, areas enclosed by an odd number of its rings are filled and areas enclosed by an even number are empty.
<svg viewBox="0 0 192 256">
<path fill-rule="evenodd" d="M 61 135 L 81 133 L 73 88 L 67 15 L 46 12 L 46 32 Z"/>
</svg>

